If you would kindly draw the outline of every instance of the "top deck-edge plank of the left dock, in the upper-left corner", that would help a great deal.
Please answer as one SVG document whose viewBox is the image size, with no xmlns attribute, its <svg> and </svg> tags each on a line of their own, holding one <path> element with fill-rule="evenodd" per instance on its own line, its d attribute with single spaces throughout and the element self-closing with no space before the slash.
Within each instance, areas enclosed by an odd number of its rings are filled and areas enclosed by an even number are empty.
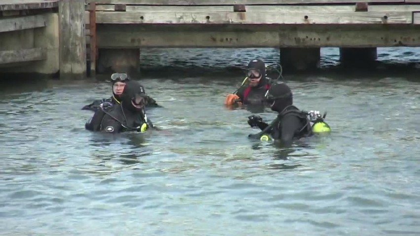
<svg viewBox="0 0 420 236">
<path fill-rule="evenodd" d="M 58 0 L 0 0 L 0 11 L 54 8 Z"/>
</svg>

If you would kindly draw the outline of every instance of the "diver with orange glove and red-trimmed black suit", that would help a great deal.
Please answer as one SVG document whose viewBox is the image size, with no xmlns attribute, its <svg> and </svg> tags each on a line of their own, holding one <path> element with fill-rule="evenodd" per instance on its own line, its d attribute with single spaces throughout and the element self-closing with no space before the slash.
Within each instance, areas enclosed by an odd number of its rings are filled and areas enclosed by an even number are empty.
<svg viewBox="0 0 420 236">
<path fill-rule="evenodd" d="M 279 78 L 281 77 L 281 72 Z M 248 82 L 245 86 L 245 82 Z M 246 78 L 242 86 L 233 94 L 228 94 L 224 104 L 230 105 L 266 105 L 264 95 L 270 89 L 272 79 L 266 75 L 265 63 L 260 59 L 250 61 L 246 67 Z"/>
</svg>

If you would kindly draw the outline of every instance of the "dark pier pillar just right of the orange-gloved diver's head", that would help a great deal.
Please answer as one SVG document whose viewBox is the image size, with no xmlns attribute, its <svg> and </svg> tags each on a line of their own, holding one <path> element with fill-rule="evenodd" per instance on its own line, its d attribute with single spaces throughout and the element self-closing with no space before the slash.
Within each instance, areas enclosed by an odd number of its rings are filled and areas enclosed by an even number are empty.
<svg viewBox="0 0 420 236">
<path fill-rule="evenodd" d="M 280 48 L 280 64 L 284 71 L 315 70 L 320 66 L 320 48 Z"/>
</svg>

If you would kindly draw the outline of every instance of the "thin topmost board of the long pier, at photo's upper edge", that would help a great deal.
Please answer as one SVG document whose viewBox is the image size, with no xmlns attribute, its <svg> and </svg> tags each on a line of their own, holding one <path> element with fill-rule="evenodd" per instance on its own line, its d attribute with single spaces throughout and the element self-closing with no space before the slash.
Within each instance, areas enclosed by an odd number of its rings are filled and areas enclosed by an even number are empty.
<svg viewBox="0 0 420 236">
<path fill-rule="evenodd" d="M 343 4 L 361 0 L 86 0 L 97 4 L 132 4 L 132 5 L 281 5 L 281 4 Z M 364 2 L 404 2 L 404 0 L 362 0 Z"/>
</svg>

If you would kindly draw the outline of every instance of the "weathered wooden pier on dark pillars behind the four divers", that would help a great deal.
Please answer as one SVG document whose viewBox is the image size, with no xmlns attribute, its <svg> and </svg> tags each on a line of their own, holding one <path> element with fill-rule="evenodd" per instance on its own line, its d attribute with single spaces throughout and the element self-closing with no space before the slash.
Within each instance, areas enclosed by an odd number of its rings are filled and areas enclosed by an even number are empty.
<svg viewBox="0 0 420 236">
<path fill-rule="evenodd" d="M 420 0 L 0 1 L 0 72 L 138 70 L 148 47 L 277 47 L 305 70 L 321 47 L 351 64 L 398 46 L 420 46 Z"/>
</svg>

